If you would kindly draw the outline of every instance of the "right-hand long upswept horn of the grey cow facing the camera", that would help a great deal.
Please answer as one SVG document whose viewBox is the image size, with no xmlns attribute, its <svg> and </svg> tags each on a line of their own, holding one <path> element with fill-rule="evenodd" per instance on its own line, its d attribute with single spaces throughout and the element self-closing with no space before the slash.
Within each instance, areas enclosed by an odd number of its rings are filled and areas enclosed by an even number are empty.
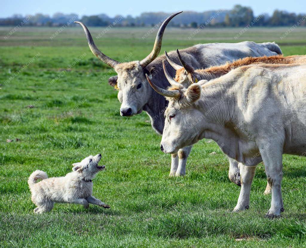
<svg viewBox="0 0 306 248">
<path fill-rule="evenodd" d="M 169 23 L 169 21 L 173 17 L 175 17 L 176 15 L 178 15 L 179 13 L 182 13 L 182 12 L 183 11 L 171 15 L 170 17 L 168 17 L 162 23 L 162 25 L 160 25 L 160 28 L 159 28 L 159 30 L 157 32 L 157 35 L 156 35 L 153 50 L 151 51 L 151 53 L 147 57 L 145 57 L 143 60 L 140 61 L 140 66 L 142 68 L 146 67 L 148 64 L 150 64 L 158 56 L 158 54 L 160 52 L 160 49 L 162 47 L 162 35 L 164 34 L 164 31 L 165 31 L 165 28 L 166 28 L 167 24 Z"/>
</svg>

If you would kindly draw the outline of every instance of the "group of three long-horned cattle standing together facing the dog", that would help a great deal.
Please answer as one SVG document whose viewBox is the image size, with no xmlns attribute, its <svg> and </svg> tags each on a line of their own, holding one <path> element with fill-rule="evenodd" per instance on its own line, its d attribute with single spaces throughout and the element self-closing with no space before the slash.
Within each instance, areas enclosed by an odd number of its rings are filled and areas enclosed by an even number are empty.
<svg viewBox="0 0 306 248">
<path fill-rule="evenodd" d="M 181 12 L 179 12 L 181 13 Z M 192 145 L 214 140 L 228 156 L 229 178 L 241 186 L 234 211 L 248 209 L 256 165 L 264 163 L 267 217 L 281 215 L 282 154 L 306 155 L 306 56 L 282 55 L 276 43 L 198 44 L 158 56 L 168 17 L 153 50 L 141 61 L 118 62 L 103 54 L 79 23 L 95 56 L 114 68 L 120 114 L 147 112 L 171 154 L 170 176 L 186 173 Z"/>
</svg>

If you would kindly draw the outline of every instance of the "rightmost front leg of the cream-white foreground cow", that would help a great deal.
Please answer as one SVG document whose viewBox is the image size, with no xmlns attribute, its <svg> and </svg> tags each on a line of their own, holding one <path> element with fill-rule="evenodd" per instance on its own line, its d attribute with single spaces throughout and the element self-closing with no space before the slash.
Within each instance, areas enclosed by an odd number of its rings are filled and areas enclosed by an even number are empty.
<svg viewBox="0 0 306 248">
<path fill-rule="evenodd" d="M 279 217 L 281 212 L 284 211 L 282 198 L 282 145 L 265 145 L 259 148 L 259 151 L 265 165 L 267 180 L 272 190 L 271 208 L 266 217 Z"/>
</svg>

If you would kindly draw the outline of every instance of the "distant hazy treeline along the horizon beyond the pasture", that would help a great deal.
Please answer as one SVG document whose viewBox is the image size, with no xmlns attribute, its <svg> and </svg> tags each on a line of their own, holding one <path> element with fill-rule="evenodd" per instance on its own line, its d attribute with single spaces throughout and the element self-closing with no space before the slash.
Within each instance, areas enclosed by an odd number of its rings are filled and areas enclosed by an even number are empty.
<svg viewBox="0 0 306 248">
<path fill-rule="evenodd" d="M 77 14 L 56 13 L 52 17 L 41 13 L 35 15 L 21 16 L 14 15 L 9 18 L 0 18 L 1 26 L 73 26 L 73 21 L 82 21 L 88 26 L 155 26 L 160 24 L 165 17 L 171 13 L 164 12 L 146 12 L 138 17 L 130 15 L 118 15 L 109 17 L 106 14 L 94 16 L 82 16 Z M 202 13 L 193 11 L 184 11 L 176 16 L 168 26 L 174 27 L 192 27 L 198 28 L 203 26 L 209 27 L 245 27 L 245 26 L 306 26 L 305 14 L 289 13 L 285 10 L 275 10 L 272 16 L 262 13 L 254 16 L 250 7 L 235 5 L 231 10 L 212 10 Z"/>
</svg>

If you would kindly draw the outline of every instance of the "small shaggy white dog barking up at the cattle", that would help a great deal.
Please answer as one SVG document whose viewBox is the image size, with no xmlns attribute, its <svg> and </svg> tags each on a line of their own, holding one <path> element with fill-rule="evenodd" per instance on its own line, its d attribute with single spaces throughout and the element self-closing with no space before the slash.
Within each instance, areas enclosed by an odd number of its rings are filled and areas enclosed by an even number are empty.
<svg viewBox="0 0 306 248">
<path fill-rule="evenodd" d="M 34 212 L 49 212 L 54 202 L 81 204 L 85 209 L 89 207 L 89 203 L 110 208 L 91 195 L 93 186 L 91 179 L 105 168 L 98 166 L 100 160 L 101 154 L 97 154 L 83 159 L 80 163 L 74 163 L 73 172 L 64 177 L 48 178 L 46 172 L 34 171 L 28 179 L 32 202 L 37 206 Z M 37 179 L 42 181 L 36 183 Z"/>
</svg>

